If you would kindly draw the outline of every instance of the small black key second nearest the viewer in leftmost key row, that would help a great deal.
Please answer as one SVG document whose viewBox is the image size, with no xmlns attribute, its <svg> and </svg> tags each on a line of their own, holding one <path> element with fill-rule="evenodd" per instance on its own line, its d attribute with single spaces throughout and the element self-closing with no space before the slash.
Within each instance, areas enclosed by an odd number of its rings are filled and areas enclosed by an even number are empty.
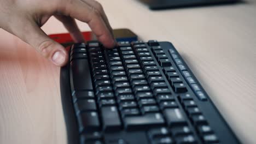
<svg viewBox="0 0 256 144">
<path fill-rule="evenodd" d="M 80 112 L 96 111 L 97 110 L 96 103 L 95 103 L 94 99 L 78 100 L 77 103 L 75 103 L 75 107 L 77 107 L 77 109 Z"/>
</svg>

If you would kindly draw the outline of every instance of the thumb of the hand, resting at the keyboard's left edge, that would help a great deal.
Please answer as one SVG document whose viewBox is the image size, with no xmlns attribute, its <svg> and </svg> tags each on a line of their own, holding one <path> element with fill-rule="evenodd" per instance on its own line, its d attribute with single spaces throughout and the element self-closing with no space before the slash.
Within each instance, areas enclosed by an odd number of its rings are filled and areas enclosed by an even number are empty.
<svg viewBox="0 0 256 144">
<path fill-rule="evenodd" d="M 63 66 L 67 63 L 68 53 L 65 48 L 50 39 L 36 22 L 26 22 L 25 27 L 14 27 L 11 32 L 33 46 L 42 56 L 55 65 Z"/>
</svg>

